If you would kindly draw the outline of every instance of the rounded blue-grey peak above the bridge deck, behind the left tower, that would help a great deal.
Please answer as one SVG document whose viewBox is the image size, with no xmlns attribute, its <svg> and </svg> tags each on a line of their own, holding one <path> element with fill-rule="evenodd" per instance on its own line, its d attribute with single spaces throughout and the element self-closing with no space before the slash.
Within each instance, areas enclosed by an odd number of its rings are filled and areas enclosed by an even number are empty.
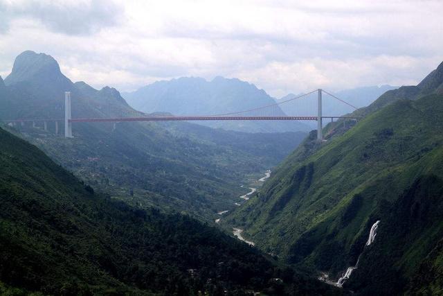
<svg viewBox="0 0 443 296">
<path fill-rule="evenodd" d="M 24 51 L 18 55 L 4 82 L 9 94 L 0 100 L 3 118 L 63 118 L 64 92 L 71 92 L 73 117 L 136 114 L 116 89 L 98 91 L 84 82 L 74 84 L 45 53 Z"/>
</svg>

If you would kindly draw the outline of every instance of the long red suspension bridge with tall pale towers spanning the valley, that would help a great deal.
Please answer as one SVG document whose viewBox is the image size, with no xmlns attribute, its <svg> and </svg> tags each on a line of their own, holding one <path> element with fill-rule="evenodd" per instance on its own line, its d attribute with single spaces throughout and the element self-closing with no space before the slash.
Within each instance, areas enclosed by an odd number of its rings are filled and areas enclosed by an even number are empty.
<svg viewBox="0 0 443 296">
<path fill-rule="evenodd" d="M 343 103 L 351 109 L 357 107 L 343 101 L 323 89 L 316 89 L 307 94 L 294 96 L 284 101 L 278 101 L 271 105 L 255 107 L 249 110 L 238 112 L 229 112 L 213 115 L 179 115 L 179 116 L 161 116 L 150 115 L 140 117 L 118 117 L 118 118 L 72 118 L 71 116 L 71 92 L 64 94 L 64 119 L 15 119 L 6 122 L 17 125 L 24 125 L 26 122 L 32 122 L 35 127 L 36 122 L 43 122 L 44 130 L 47 130 L 48 122 L 55 122 L 55 133 L 58 133 L 59 122 L 64 121 L 64 137 L 70 138 L 72 135 L 72 123 L 78 122 L 125 122 L 125 121 L 317 121 L 317 139 L 322 140 L 323 119 L 352 119 L 357 120 L 359 116 L 332 116 L 323 114 L 323 101 L 332 99 L 338 103 Z"/>
</svg>

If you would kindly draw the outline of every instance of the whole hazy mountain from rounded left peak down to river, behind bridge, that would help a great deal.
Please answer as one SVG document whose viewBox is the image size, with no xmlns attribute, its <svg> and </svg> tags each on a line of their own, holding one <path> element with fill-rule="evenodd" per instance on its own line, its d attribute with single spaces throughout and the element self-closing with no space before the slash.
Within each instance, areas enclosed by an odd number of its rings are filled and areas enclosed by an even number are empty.
<svg viewBox="0 0 443 296">
<path fill-rule="evenodd" d="M 65 90 L 72 92 L 73 118 L 143 116 L 116 89 L 72 83 L 49 55 L 22 53 L 7 80 L 0 119 L 63 118 Z M 48 122 L 48 131 L 42 123 L 10 131 L 96 189 L 204 220 L 235 207 L 237 196 L 246 193 L 239 184 L 280 162 L 304 136 L 225 132 L 190 123 L 74 123 L 73 139 L 54 129 Z"/>
</svg>

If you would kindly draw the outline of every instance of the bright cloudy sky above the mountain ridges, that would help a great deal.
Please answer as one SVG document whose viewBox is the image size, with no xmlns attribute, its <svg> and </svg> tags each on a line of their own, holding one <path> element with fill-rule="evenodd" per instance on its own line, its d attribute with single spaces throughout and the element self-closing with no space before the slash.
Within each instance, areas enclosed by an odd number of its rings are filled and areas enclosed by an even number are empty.
<svg viewBox="0 0 443 296">
<path fill-rule="evenodd" d="M 129 91 L 236 77 L 272 96 L 416 84 L 443 61 L 442 0 L 0 0 L 0 75 L 21 51 Z"/>
</svg>

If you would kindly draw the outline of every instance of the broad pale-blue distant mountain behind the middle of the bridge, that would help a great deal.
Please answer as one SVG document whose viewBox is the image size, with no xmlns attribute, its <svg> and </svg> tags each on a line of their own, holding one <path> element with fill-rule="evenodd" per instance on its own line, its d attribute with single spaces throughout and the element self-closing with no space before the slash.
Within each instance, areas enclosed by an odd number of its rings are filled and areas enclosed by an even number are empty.
<svg viewBox="0 0 443 296">
<path fill-rule="evenodd" d="M 143 112 L 170 112 L 181 115 L 211 115 L 250 110 L 274 104 L 275 101 L 263 89 L 238 79 L 216 77 L 182 77 L 170 81 L 154 82 L 132 93 L 124 93 L 129 105 Z M 278 108 L 278 112 L 282 110 Z M 270 113 L 269 113 L 270 114 Z M 267 114 L 262 114 L 267 115 Z M 274 114 L 275 115 L 275 114 Z M 307 131 L 300 122 L 263 121 L 201 121 L 201 124 L 242 132 L 293 132 Z"/>
</svg>

